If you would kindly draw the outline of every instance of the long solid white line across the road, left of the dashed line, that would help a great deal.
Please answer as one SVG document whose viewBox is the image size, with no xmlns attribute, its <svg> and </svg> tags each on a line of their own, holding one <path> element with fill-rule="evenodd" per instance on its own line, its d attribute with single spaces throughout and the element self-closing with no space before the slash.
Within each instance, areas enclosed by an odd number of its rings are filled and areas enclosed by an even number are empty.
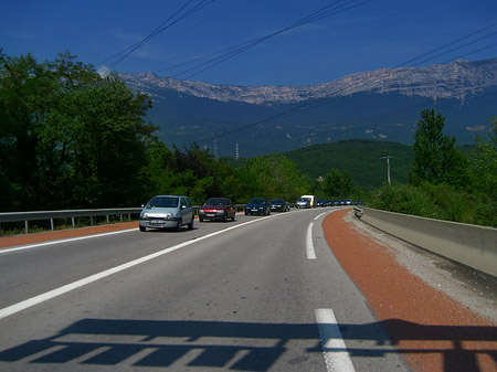
<svg viewBox="0 0 497 372">
<path fill-rule="evenodd" d="M 204 235 L 204 236 L 197 237 L 197 238 L 194 238 L 194 240 L 192 240 L 192 241 L 183 242 L 183 243 L 177 244 L 177 245 L 175 245 L 175 246 L 172 246 L 172 247 L 169 247 L 169 248 L 166 248 L 166 249 L 162 249 L 162 251 L 152 253 L 152 254 L 150 254 L 150 255 L 148 255 L 148 256 L 144 256 L 144 257 L 141 257 L 141 258 L 137 258 L 137 259 L 130 261 L 130 262 L 128 262 L 128 263 L 126 263 L 126 264 L 118 265 L 118 266 L 116 266 L 116 267 L 106 269 L 106 270 L 104 270 L 104 272 L 102 272 L 102 273 L 98 273 L 98 274 L 95 274 L 95 275 L 91 275 L 91 276 L 88 276 L 88 277 L 86 277 L 86 278 L 83 278 L 83 279 L 81 279 L 81 280 L 73 281 L 73 283 L 67 284 L 67 285 L 65 285 L 65 286 L 62 286 L 62 287 L 60 287 L 60 288 L 56 288 L 56 289 L 53 289 L 53 290 L 49 290 L 49 291 L 46 291 L 46 293 L 44 293 L 44 294 L 41 294 L 41 295 L 39 295 L 39 296 L 34 296 L 34 297 L 29 298 L 29 299 L 27 299 L 27 300 L 23 300 L 23 301 L 21 301 L 21 302 L 18 302 L 18 304 L 8 306 L 8 307 L 6 307 L 6 308 L 3 308 L 3 309 L 0 309 L 0 319 L 3 319 L 3 318 L 6 318 L 6 317 L 9 317 L 9 316 L 15 313 L 15 312 L 25 310 L 25 309 L 28 309 L 28 308 L 30 308 L 30 307 L 32 307 L 32 306 L 34 306 L 34 305 L 44 302 L 44 301 L 46 301 L 46 300 L 49 300 L 49 299 L 52 299 L 52 298 L 55 298 L 55 297 L 61 296 L 61 295 L 63 295 L 63 294 L 66 294 L 66 293 L 68 293 L 68 291 L 71 291 L 71 290 L 81 288 L 81 287 L 83 287 L 83 286 L 85 286 L 85 285 L 87 285 L 87 284 L 91 284 L 91 283 L 93 283 L 93 281 L 99 280 L 99 279 L 105 278 L 105 277 L 107 277 L 107 276 L 110 276 L 110 275 L 113 275 L 113 274 L 123 272 L 123 270 L 125 270 L 125 269 L 127 269 L 127 268 L 130 268 L 130 267 L 133 267 L 133 266 L 142 264 L 142 263 L 145 263 L 145 262 L 147 262 L 147 261 L 150 261 L 150 259 L 154 259 L 154 258 L 157 258 L 157 257 L 160 257 L 160 256 L 166 255 L 166 254 L 168 254 L 168 253 L 175 252 L 175 251 L 177 251 L 177 249 L 179 249 L 179 248 L 183 248 L 183 247 L 186 247 L 187 245 L 190 245 L 190 244 L 193 244 L 193 243 L 203 241 L 203 240 L 205 240 L 205 238 L 210 238 L 210 237 L 212 237 L 212 236 L 215 236 L 215 235 L 219 235 L 219 234 L 222 234 L 222 233 L 225 233 L 225 232 L 228 232 L 228 231 L 230 231 L 230 230 L 239 228 L 239 227 L 248 225 L 248 224 L 251 224 L 251 223 L 255 223 L 255 222 L 257 222 L 257 221 L 262 221 L 262 220 L 271 219 L 271 217 L 272 217 L 272 216 L 269 215 L 269 216 L 266 216 L 266 217 L 262 217 L 262 219 L 257 219 L 257 220 L 252 220 L 252 221 L 248 221 L 248 222 L 244 222 L 244 223 L 241 223 L 241 224 L 239 224 L 239 225 L 234 225 L 234 226 L 231 226 L 231 227 L 228 227 L 228 228 L 224 228 L 224 230 L 220 230 L 220 231 L 216 231 L 216 232 L 214 232 L 214 233 L 211 233 L 211 234 L 208 234 L 208 235 Z M 135 228 L 135 230 L 136 230 L 136 228 Z"/>
</svg>

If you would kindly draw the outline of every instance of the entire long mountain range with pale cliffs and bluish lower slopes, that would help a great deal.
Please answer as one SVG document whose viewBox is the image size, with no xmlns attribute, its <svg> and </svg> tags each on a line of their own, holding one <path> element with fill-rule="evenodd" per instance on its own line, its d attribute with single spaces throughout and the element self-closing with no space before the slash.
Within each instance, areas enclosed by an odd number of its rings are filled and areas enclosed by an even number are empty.
<svg viewBox="0 0 497 372">
<path fill-rule="evenodd" d="M 218 156 L 252 157 L 351 138 L 410 145 L 425 108 L 445 117 L 444 132 L 458 145 L 473 144 L 497 115 L 497 59 L 382 68 L 313 86 L 119 76 L 152 98 L 147 120 L 166 145 L 197 144 Z"/>
</svg>

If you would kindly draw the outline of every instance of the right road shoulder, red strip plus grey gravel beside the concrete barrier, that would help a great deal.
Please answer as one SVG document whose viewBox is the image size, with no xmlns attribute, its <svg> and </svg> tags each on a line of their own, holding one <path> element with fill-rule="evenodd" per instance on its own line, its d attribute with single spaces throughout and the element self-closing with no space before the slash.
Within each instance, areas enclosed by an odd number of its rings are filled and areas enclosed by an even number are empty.
<svg viewBox="0 0 497 372">
<path fill-rule="evenodd" d="M 411 368 L 496 371 L 495 293 L 474 293 L 453 264 L 353 219 L 350 210 L 329 214 L 325 237 Z"/>
</svg>

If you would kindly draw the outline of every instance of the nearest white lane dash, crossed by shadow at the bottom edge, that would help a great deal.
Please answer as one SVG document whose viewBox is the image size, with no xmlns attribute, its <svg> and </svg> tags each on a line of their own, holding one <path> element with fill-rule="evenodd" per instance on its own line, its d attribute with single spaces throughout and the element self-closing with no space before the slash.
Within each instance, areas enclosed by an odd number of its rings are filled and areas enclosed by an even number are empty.
<svg viewBox="0 0 497 372">
<path fill-rule="evenodd" d="M 334 310 L 316 309 L 316 321 L 328 372 L 355 372 L 356 370 L 338 328 Z"/>
</svg>

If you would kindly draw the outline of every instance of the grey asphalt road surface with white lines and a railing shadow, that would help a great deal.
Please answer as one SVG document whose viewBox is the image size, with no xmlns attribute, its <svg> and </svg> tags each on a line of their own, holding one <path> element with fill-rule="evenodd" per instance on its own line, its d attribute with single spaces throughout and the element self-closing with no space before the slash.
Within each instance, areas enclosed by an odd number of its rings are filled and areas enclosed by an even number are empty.
<svg viewBox="0 0 497 372">
<path fill-rule="evenodd" d="M 412 370 L 329 213 L 3 248 L 0 371 Z"/>
</svg>

